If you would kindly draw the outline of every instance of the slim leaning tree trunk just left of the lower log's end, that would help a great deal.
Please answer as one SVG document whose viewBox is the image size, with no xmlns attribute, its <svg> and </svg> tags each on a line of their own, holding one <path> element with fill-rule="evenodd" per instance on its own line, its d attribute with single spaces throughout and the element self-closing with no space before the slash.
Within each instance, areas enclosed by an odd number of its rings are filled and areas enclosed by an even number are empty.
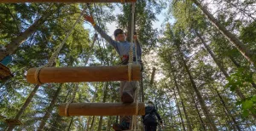
<svg viewBox="0 0 256 131">
<path fill-rule="evenodd" d="M 63 83 L 61 83 L 61 84 L 60 84 L 60 87 L 57 88 L 57 90 L 55 91 L 55 95 L 54 95 L 53 99 L 51 100 L 51 102 L 50 102 L 50 104 L 49 104 L 49 107 L 48 107 L 48 109 L 47 109 L 47 111 L 46 111 L 44 117 L 42 118 L 42 121 L 41 121 L 41 123 L 40 123 L 40 125 L 39 125 L 38 131 L 41 131 L 41 130 L 44 129 L 45 123 L 46 123 L 46 121 L 47 121 L 48 118 L 49 118 L 50 112 L 53 110 L 54 105 L 55 105 L 55 103 L 56 103 L 56 101 L 57 101 L 57 98 L 58 98 L 59 94 L 61 93 L 62 85 L 63 85 Z"/>
</svg>

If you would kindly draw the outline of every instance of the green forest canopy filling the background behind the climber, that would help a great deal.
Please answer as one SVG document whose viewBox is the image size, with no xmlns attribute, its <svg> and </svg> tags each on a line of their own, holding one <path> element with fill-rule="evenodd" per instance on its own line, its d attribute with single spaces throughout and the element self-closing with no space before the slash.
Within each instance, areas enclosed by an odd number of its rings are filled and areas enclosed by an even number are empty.
<svg viewBox="0 0 256 131">
<path fill-rule="evenodd" d="M 226 1 L 224 1 L 226 2 Z M 219 3 L 224 3 L 219 1 Z M 204 3 L 204 2 L 203 2 Z M 232 1 L 231 3 L 235 3 Z M 238 2 L 237 8 L 243 9 L 252 1 Z M 239 10 L 230 8 L 230 3 L 226 10 L 217 10 L 216 15 L 221 24 L 228 27 L 230 31 L 237 32 L 240 39 L 250 49 L 255 48 L 255 21 L 248 22 L 238 16 L 245 14 L 244 9 L 240 13 L 233 12 Z M 143 60 L 145 71 L 143 72 L 144 98 L 154 100 L 160 112 L 160 116 L 169 127 L 166 130 L 183 130 L 183 122 L 190 122 L 194 130 L 208 130 L 207 118 L 202 111 L 200 99 L 195 94 L 195 88 L 191 82 L 195 82 L 203 102 L 206 103 L 212 119 L 216 122 L 219 130 L 238 130 L 232 123 L 254 122 L 252 115 L 256 114 L 256 95 L 252 83 L 256 80 L 254 68 L 250 66 L 239 51 L 223 37 L 223 35 L 210 24 L 210 21 L 201 14 L 191 1 L 172 1 L 170 11 L 166 14 L 168 18 L 174 17 L 174 24 L 166 23 L 163 33 L 153 28 L 153 23 L 157 21 L 157 14 L 168 6 L 163 0 L 137 0 L 135 23 L 140 42 L 143 44 L 143 54 L 149 56 L 149 60 Z M 20 35 L 27 27 L 31 26 L 35 20 L 52 11 L 53 14 L 37 27 L 37 31 L 20 45 L 13 55 L 14 61 L 9 65 L 15 77 L 0 85 L 0 130 L 6 128 L 4 118 L 13 118 L 24 104 L 27 96 L 32 92 L 34 85 L 26 83 L 26 71 L 29 68 L 47 64 L 50 56 L 59 47 L 67 31 L 73 26 L 84 5 L 78 3 L 1 3 L 0 4 L 0 44 L 8 44 L 11 39 Z M 121 14 L 114 14 L 113 10 L 119 8 Z M 90 9 L 90 11 L 89 11 Z M 93 3 L 90 4 L 88 12 L 91 12 L 98 25 L 106 29 L 108 22 L 117 22 L 118 26 L 129 31 L 131 22 L 131 4 Z M 246 12 L 249 13 L 249 12 Z M 239 15 L 238 15 L 239 14 Z M 237 16 L 237 17 L 236 17 Z M 115 19 L 117 18 L 117 19 Z M 106 30 L 105 30 L 106 31 Z M 201 33 L 207 45 L 212 49 L 213 54 L 219 61 L 219 65 L 224 67 L 230 77 L 224 78 L 222 71 L 219 71 L 216 61 L 204 49 L 201 41 L 195 34 Z M 111 32 L 112 34 L 112 32 Z M 110 34 L 110 35 L 111 35 Z M 56 66 L 76 66 L 84 65 L 84 58 L 90 55 L 88 65 L 117 65 L 119 57 L 113 47 L 106 46 L 108 43 L 99 39 L 93 48 L 91 45 L 90 31 L 84 29 L 83 20 L 79 22 L 72 34 L 67 39 L 67 43 L 61 49 L 61 53 L 56 60 Z M 158 43 L 159 42 L 159 43 Z M 156 47 L 158 45 L 158 47 Z M 157 54 L 157 57 L 151 57 Z M 231 57 L 230 57 L 231 56 Z M 154 58 L 154 59 L 153 59 Z M 236 65 L 235 62 L 238 63 Z M 152 59 L 154 62 L 151 62 Z M 184 66 L 184 63 L 187 67 Z M 157 66 L 157 81 L 150 84 L 152 65 Z M 191 76 L 188 76 L 188 69 Z M 175 83 L 174 79 L 177 81 Z M 74 102 L 119 102 L 119 82 L 111 83 L 65 83 L 61 88 L 61 94 L 55 103 L 55 107 L 50 112 L 45 130 L 96 130 L 99 124 L 99 117 L 60 117 L 58 116 L 57 105 L 67 103 L 73 96 L 73 88 L 79 86 Z M 42 121 L 49 103 L 55 94 L 58 84 L 44 84 L 32 98 L 32 102 L 26 107 L 21 116 L 23 127 L 16 127 L 16 130 L 35 130 L 38 123 Z M 179 88 L 179 93 L 177 91 Z M 231 92 L 229 89 L 230 88 Z M 236 89 L 240 89 L 246 96 L 246 100 L 239 100 Z M 174 95 L 175 93 L 175 95 Z M 103 100 L 104 99 L 104 100 Z M 183 105 L 181 105 L 183 102 Z M 177 110 L 177 106 L 181 109 Z M 183 108 L 186 109 L 187 115 Z M 220 114 L 220 115 L 219 115 Z M 238 116 L 236 116 L 238 114 Z M 235 116 L 235 117 L 232 117 Z M 187 119 L 188 118 L 188 119 Z M 103 117 L 102 129 L 110 130 L 111 123 L 116 121 L 116 117 Z M 225 122 L 225 124 L 218 124 Z M 88 124 L 87 124 L 88 123 Z M 201 124 L 207 123 L 207 124 Z M 229 123 L 229 124 L 227 124 Z M 90 127 L 92 126 L 92 127 Z M 187 128 L 187 127 L 186 127 Z M 247 130 L 241 126 L 241 130 Z M 187 128 L 188 129 L 188 128 Z"/>
</svg>

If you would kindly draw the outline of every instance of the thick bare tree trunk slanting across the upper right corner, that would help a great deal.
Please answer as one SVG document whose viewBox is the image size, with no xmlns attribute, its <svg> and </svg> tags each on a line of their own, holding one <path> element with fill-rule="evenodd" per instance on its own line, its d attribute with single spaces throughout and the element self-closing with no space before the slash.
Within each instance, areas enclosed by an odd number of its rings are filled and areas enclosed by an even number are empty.
<svg viewBox="0 0 256 131">
<path fill-rule="evenodd" d="M 198 6 L 201 11 L 207 16 L 208 20 L 212 22 L 212 25 L 216 26 L 218 28 L 218 31 L 220 31 L 224 37 L 226 37 L 230 43 L 233 43 L 234 46 L 240 51 L 240 53 L 251 63 L 256 67 L 256 60 L 255 56 L 253 54 L 253 51 L 247 48 L 244 43 L 241 43 L 241 41 L 230 31 L 228 31 L 223 25 L 221 25 L 218 20 L 216 20 L 213 15 L 205 9 L 201 3 L 199 3 L 197 0 L 191 0 Z"/>
</svg>

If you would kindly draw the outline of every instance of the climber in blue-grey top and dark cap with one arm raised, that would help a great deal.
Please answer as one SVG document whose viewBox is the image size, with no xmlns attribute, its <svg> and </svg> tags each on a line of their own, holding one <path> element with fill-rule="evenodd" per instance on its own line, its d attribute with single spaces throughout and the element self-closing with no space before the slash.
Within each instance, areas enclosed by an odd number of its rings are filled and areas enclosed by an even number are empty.
<svg viewBox="0 0 256 131">
<path fill-rule="evenodd" d="M 108 36 L 105 31 L 102 31 L 102 29 L 96 25 L 94 19 L 92 16 L 84 15 L 84 20 L 90 22 L 90 24 L 95 28 L 95 30 L 101 34 L 101 36 L 110 44 L 113 46 L 113 48 L 117 51 L 119 54 L 120 59 L 122 60 L 121 64 L 126 65 L 128 64 L 129 60 L 129 52 L 131 48 L 131 43 L 126 41 L 125 32 L 122 29 L 116 29 L 113 32 L 113 36 L 115 40 L 113 40 L 112 37 Z M 136 61 L 136 52 L 137 52 L 137 60 L 141 64 L 142 67 L 142 48 L 137 40 L 137 35 L 133 37 L 136 40 L 137 44 L 137 50 L 135 50 L 135 46 L 133 44 L 133 61 Z M 142 67 L 143 69 L 143 67 Z M 120 100 L 123 103 L 132 103 L 134 101 L 134 94 L 137 89 L 136 82 L 128 82 L 128 81 L 121 81 L 120 82 L 120 88 L 119 88 L 119 95 Z M 131 116 L 123 116 L 120 119 L 120 123 L 114 123 L 113 129 L 115 131 L 121 131 L 131 128 Z"/>
</svg>

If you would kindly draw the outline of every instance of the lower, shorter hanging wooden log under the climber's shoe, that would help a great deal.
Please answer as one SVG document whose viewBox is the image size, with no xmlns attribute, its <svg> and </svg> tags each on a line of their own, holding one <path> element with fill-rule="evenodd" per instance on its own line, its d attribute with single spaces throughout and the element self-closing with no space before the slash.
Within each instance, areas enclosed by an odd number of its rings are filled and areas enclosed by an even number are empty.
<svg viewBox="0 0 256 131">
<path fill-rule="evenodd" d="M 65 116 L 67 104 L 59 105 L 59 115 Z M 136 103 L 71 103 L 67 116 L 131 116 L 136 115 Z M 145 115 L 144 103 L 138 103 L 138 115 Z"/>
</svg>

